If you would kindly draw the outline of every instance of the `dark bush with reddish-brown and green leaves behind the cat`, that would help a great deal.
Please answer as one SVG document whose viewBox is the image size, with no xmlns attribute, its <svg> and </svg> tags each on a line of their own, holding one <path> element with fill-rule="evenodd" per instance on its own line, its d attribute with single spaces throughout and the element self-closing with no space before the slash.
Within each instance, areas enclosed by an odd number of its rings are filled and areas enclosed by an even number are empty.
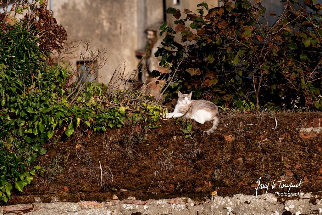
<svg viewBox="0 0 322 215">
<path fill-rule="evenodd" d="M 171 65 L 159 77 L 173 82 L 166 97 L 194 91 L 195 98 L 230 107 L 245 100 L 256 109 L 321 110 L 322 5 L 282 0 L 285 10 L 269 26 L 267 17 L 276 15 L 265 14 L 260 0 L 233 2 L 214 8 L 203 2 L 196 13 L 167 9 L 176 26 L 160 27 L 167 35 L 156 52 L 162 66 Z"/>
</svg>

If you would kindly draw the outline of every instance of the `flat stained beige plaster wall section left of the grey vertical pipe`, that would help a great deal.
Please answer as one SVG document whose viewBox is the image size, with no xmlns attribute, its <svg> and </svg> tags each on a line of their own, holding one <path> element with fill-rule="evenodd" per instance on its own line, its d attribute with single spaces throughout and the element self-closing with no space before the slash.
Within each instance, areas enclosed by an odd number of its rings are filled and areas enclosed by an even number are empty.
<svg viewBox="0 0 322 215">
<path fill-rule="evenodd" d="M 107 49 L 105 66 L 99 70 L 100 82 L 108 82 L 118 66 L 126 61 L 127 72 L 137 66 L 137 0 L 55 0 L 54 15 L 67 30 L 68 41 L 92 41 L 92 49 Z M 82 47 L 66 60 L 79 60 Z"/>
</svg>

